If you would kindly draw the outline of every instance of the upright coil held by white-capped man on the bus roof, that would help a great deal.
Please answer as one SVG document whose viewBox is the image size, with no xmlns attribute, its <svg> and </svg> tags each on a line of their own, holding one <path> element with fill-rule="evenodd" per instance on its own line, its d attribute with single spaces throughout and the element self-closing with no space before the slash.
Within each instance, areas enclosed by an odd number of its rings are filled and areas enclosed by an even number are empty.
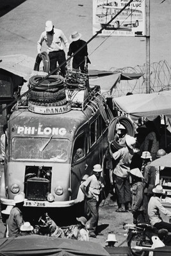
<svg viewBox="0 0 171 256">
<path fill-rule="evenodd" d="M 35 66 L 34 66 L 34 70 L 35 71 L 40 71 L 40 62 L 43 62 L 44 67 L 43 67 L 43 71 L 46 73 L 49 73 L 50 71 L 50 59 L 49 56 L 47 54 L 46 51 L 43 51 L 42 53 L 39 53 L 37 55 L 37 59 L 35 61 Z"/>
</svg>

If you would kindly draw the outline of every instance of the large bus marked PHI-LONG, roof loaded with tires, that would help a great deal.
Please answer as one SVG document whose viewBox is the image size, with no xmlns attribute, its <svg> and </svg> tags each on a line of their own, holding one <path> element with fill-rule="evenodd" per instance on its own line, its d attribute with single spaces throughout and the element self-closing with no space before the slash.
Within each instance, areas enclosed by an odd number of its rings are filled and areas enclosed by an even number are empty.
<svg viewBox="0 0 171 256">
<path fill-rule="evenodd" d="M 95 164 L 102 165 L 108 147 L 105 120 L 109 111 L 99 86 L 79 92 L 85 95 L 81 103 L 29 100 L 11 114 L 0 184 L 1 210 L 13 205 L 14 196 L 21 193 L 26 198 L 24 212 L 31 219 L 40 217 L 42 211 L 55 215 L 56 208 L 79 202 L 81 182 L 92 175 Z"/>
</svg>

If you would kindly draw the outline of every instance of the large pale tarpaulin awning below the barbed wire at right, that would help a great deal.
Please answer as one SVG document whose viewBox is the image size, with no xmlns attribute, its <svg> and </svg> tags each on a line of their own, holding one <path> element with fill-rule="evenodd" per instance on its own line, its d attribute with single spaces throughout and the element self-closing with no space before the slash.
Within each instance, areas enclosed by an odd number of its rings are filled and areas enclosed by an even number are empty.
<svg viewBox="0 0 171 256">
<path fill-rule="evenodd" d="M 113 102 L 134 121 L 141 117 L 154 120 L 160 114 L 171 118 L 171 91 L 121 96 Z"/>
</svg>

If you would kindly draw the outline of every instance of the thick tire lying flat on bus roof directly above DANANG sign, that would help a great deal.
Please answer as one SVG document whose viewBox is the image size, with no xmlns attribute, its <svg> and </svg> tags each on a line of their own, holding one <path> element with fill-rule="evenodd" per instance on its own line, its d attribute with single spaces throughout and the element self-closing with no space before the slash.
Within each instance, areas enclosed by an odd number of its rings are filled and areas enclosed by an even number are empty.
<svg viewBox="0 0 171 256">
<path fill-rule="evenodd" d="M 65 88 L 58 90 L 57 93 L 50 93 L 47 91 L 30 91 L 29 100 L 37 102 L 55 102 L 65 98 Z"/>
</svg>

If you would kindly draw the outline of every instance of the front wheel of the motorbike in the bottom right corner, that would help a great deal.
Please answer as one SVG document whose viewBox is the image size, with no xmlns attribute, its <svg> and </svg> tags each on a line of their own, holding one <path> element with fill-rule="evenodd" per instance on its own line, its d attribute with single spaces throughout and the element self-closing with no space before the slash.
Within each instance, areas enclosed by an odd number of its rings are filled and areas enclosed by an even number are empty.
<svg viewBox="0 0 171 256">
<path fill-rule="evenodd" d="M 133 237 L 127 242 L 127 246 L 131 248 L 131 252 L 135 256 L 140 256 L 142 255 L 142 251 L 136 251 L 134 250 L 134 246 L 147 246 L 151 247 L 152 246 L 152 241 L 151 238 L 148 235 L 143 235 L 142 233 L 134 233 Z M 145 253 L 145 255 L 148 255 L 149 252 Z"/>
</svg>

